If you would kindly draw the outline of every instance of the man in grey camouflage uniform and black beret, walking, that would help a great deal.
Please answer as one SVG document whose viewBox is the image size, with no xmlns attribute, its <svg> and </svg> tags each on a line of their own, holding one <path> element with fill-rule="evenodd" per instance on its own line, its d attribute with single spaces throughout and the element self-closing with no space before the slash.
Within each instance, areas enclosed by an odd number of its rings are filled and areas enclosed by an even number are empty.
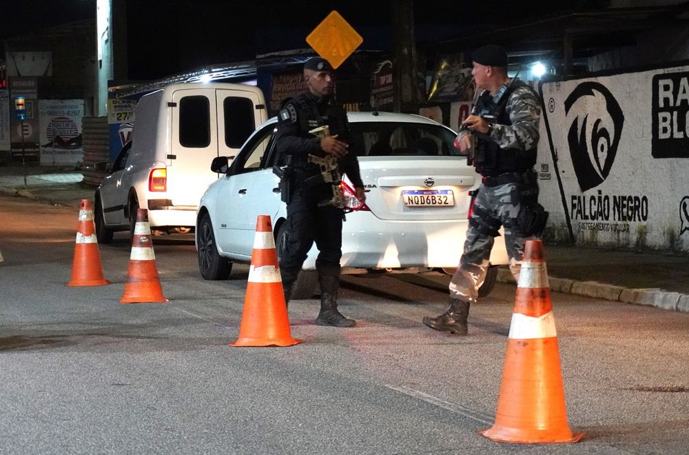
<svg viewBox="0 0 689 455">
<path fill-rule="evenodd" d="M 533 165 L 539 139 L 539 98 L 525 83 L 517 79 L 508 82 L 507 52 L 500 46 L 485 45 L 471 57 L 476 88 L 484 91 L 472 115 L 462 122 L 455 142 L 463 152 L 468 152 L 474 136 L 473 164 L 483 176 L 482 185 L 469 219 L 460 267 L 449 285 L 449 309 L 438 317 L 423 319 L 425 325 L 435 330 L 458 335 L 467 333 L 469 305 L 476 301 L 486 277 L 501 225 L 510 270 L 517 280 L 526 237 L 539 233 L 528 232 L 531 228 L 520 223 L 522 208 L 537 204 L 538 184 Z"/>
</svg>

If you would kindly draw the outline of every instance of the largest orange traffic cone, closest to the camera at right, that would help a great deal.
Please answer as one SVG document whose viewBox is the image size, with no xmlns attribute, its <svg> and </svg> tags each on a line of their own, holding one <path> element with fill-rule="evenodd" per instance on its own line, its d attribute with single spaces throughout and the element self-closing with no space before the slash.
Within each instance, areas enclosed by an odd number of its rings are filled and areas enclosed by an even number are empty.
<svg viewBox="0 0 689 455">
<path fill-rule="evenodd" d="M 576 443 L 567 425 L 548 272 L 539 240 L 526 241 L 495 424 L 479 432 L 500 443 Z"/>
</svg>

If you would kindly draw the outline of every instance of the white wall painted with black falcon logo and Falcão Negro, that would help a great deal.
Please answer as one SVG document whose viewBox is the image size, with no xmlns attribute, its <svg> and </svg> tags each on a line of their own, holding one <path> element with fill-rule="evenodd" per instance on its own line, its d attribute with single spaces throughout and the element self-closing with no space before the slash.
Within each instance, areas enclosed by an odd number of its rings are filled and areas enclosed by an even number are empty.
<svg viewBox="0 0 689 455">
<path fill-rule="evenodd" d="M 689 252 L 689 65 L 540 90 L 544 236 Z"/>
</svg>

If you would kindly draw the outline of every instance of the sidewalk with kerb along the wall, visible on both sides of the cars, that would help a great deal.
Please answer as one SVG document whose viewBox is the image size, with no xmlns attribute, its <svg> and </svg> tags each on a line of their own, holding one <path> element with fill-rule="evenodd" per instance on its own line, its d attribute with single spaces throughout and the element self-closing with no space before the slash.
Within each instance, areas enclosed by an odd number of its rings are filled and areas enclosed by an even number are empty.
<svg viewBox="0 0 689 455">
<path fill-rule="evenodd" d="M 0 192 L 79 208 L 95 188 L 73 165 L 0 165 Z M 545 245 L 551 290 L 689 312 L 689 257 L 575 245 Z M 514 283 L 501 267 L 498 281 Z"/>
</svg>

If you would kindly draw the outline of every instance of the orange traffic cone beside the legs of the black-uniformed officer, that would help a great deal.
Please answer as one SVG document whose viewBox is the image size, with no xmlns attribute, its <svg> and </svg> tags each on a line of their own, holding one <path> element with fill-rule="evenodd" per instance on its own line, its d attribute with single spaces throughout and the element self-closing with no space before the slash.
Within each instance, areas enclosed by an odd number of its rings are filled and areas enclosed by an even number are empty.
<svg viewBox="0 0 689 455">
<path fill-rule="evenodd" d="M 292 346 L 302 341 L 289 330 L 270 216 L 259 215 L 239 338 L 229 345 Z"/>
</svg>

